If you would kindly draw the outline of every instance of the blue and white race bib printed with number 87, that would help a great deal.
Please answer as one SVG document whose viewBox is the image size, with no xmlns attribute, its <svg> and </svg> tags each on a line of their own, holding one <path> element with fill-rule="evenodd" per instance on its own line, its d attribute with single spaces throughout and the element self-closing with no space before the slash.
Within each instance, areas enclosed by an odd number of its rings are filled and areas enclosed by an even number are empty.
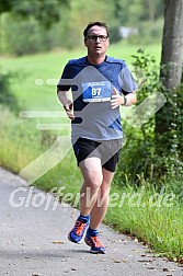
<svg viewBox="0 0 183 276">
<path fill-rule="evenodd" d="M 111 101 L 112 85 L 110 81 L 82 83 L 82 100 L 85 103 Z"/>
</svg>

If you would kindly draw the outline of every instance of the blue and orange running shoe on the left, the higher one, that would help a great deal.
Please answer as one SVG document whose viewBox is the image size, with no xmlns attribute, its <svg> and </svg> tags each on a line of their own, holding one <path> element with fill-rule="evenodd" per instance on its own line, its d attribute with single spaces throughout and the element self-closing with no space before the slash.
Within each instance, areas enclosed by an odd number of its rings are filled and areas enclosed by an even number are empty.
<svg viewBox="0 0 183 276">
<path fill-rule="evenodd" d="M 89 222 L 83 223 L 79 219 L 77 219 L 75 227 L 71 229 L 71 231 L 68 234 L 68 239 L 71 242 L 75 243 L 81 243 L 81 240 L 83 238 L 83 234 L 89 226 Z"/>
</svg>

